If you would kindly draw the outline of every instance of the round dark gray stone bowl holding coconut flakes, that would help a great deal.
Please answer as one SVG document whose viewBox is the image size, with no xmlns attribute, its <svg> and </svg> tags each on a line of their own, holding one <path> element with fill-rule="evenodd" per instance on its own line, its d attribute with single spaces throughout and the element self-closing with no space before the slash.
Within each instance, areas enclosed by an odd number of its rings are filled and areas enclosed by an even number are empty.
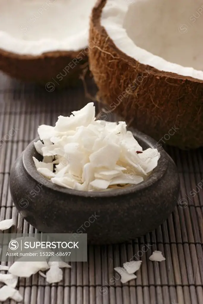
<svg viewBox="0 0 203 304">
<path fill-rule="evenodd" d="M 134 136 L 144 148 L 156 142 L 141 132 Z M 40 175 L 32 157 L 41 160 L 33 140 L 10 173 L 10 191 L 21 216 L 44 233 L 87 233 L 91 244 L 120 243 L 157 228 L 177 204 L 180 181 L 170 156 L 161 157 L 149 178 L 109 192 L 77 191 L 53 184 Z"/>
</svg>

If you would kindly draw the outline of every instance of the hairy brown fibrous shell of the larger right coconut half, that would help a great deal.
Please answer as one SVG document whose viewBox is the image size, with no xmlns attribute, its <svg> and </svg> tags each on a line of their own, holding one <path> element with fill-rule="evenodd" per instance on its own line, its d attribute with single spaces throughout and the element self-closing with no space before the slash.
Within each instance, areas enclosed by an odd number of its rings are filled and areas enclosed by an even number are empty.
<svg viewBox="0 0 203 304">
<path fill-rule="evenodd" d="M 98 41 L 89 52 L 89 66 L 106 109 L 159 144 L 203 146 L 203 81 L 159 71 L 119 50 L 100 23 L 106 1 L 93 8 L 89 36 Z M 139 78 L 145 71 L 147 77 Z M 134 80 L 135 89 L 127 93 Z"/>
</svg>

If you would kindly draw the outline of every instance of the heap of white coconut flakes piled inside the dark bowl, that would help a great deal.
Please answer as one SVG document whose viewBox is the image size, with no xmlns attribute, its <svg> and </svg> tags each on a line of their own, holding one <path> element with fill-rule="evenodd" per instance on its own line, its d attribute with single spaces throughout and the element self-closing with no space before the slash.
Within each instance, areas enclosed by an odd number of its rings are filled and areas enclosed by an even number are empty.
<svg viewBox="0 0 203 304">
<path fill-rule="evenodd" d="M 125 122 L 96 120 L 93 102 L 55 126 L 41 125 L 33 158 L 37 171 L 53 183 L 84 191 L 106 191 L 136 185 L 156 168 L 157 149 L 143 151 Z M 137 153 L 139 151 L 140 153 Z M 119 185 L 119 186 L 118 186 Z"/>
</svg>

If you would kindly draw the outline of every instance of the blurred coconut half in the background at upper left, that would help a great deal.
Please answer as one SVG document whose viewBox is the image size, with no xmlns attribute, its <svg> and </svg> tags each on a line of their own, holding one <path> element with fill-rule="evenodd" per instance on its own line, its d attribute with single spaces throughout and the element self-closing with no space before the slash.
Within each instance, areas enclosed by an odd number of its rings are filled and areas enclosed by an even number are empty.
<svg viewBox="0 0 203 304">
<path fill-rule="evenodd" d="M 96 0 L 0 0 L 0 69 L 24 81 L 71 82 L 86 62 Z M 69 80 L 68 80 L 69 79 Z"/>
</svg>

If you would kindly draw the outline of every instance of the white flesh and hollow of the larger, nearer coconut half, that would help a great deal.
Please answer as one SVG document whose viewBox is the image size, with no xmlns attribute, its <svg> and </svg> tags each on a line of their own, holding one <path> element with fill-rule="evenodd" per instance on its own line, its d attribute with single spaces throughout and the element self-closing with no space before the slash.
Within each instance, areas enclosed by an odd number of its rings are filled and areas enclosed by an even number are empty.
<svg viewBox="0 0 203 304">
<path fill-rule="evenodd" d="M 101 25 L 141 64 L 203 80 L 201 0 L 107 0 Z"/>
</svg>

